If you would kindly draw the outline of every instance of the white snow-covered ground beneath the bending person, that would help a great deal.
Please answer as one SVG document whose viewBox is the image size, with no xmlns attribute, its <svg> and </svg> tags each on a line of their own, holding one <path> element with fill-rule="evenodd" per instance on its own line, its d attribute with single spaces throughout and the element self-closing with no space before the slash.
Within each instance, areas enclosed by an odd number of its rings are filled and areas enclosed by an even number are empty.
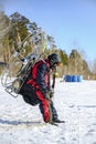
<svg viewBox="0 0 96 144">
<path fill-rule="evenodd" d="M 66 121 L 58 127 L 43 124 L 38 106 L 10 96 L 0 84 L 0 144 L 96 144 L 96 81 L 56 80 L 54 104 Z"/>
</svg>

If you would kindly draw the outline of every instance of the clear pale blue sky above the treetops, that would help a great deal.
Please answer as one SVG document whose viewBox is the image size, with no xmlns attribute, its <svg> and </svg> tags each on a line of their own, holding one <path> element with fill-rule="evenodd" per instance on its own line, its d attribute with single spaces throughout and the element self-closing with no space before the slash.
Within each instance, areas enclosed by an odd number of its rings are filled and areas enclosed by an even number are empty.
<svg viewBox="0 0 96 144">
<path fill-rule="evenodd" d="M 0 0 L 6 14 L 19 12 L 36 22 L 57 48 L 82 52 L 87 61 L 96 59 L 95 0 Z"/>
</svg>

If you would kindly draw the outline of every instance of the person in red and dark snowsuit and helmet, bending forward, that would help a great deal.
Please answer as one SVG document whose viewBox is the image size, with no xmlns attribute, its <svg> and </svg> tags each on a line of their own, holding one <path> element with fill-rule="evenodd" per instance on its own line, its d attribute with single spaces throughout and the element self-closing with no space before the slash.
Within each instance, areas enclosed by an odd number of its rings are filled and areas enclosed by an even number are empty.
<svg viewBox="0 0 96 144">
<path fill-rule="evenodd" d="M 61 122 L 52 101 L 53 91 L 50 82 L 50 73 L 60 62 L 60 56 L 56 53 L 52 53 L 47 59 L 36 62 L 20 91 L 25 102 L 31 105 L 40 104 L 40 111 L 45 123 L 50 123 L 50 121 Z"/>
</svg>

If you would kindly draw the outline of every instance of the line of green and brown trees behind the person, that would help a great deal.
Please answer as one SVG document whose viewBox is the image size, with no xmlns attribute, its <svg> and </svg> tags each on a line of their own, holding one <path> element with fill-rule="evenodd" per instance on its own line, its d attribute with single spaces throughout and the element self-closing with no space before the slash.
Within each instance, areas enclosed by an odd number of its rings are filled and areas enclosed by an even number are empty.
<svg viewBox="0 0 96 144">
<path fill-rule="evenodd" d="M 22 41 L 24 42 L 21 45 Z M 15 50 L 21 50 L 23 55 L 32 52 L 44 52 L 45 55 L 57 52 L 62 60 L 58 76 L 64 74 L 82 74 L 84 79 L 96 79 L 96 75 L 90 72 L 87 62 L 77 50 L 72 50 L 71 54 L 67 55 L 64 48 L 58 49 L 54 38 L 47 35 L 36 22 L 31 22 L 18 12 L 8 17 L 1 11 L 0 61 L 9 62 L 10 56 Z"/>
</svg>

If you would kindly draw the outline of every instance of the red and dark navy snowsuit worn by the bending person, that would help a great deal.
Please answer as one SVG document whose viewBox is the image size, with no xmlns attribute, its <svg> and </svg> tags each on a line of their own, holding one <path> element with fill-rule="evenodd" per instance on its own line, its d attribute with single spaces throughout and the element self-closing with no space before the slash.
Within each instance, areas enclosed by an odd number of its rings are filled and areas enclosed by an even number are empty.
<svg viewBox="0 0 96 144">
<path fill-rule="evenodd" d="M 40 103 L 40 110 L 45 122 L 50 120 L 50 107 L 46 94 L 50 91 L 50 62 L 49 60 L 40 60 L 34 64 L 31 73 L 21 90 L 21 94 L 25 102 L 35 105 Z M 53 120 L 57 119 L 56 110 L 51 101 Z"/>
</svg>

